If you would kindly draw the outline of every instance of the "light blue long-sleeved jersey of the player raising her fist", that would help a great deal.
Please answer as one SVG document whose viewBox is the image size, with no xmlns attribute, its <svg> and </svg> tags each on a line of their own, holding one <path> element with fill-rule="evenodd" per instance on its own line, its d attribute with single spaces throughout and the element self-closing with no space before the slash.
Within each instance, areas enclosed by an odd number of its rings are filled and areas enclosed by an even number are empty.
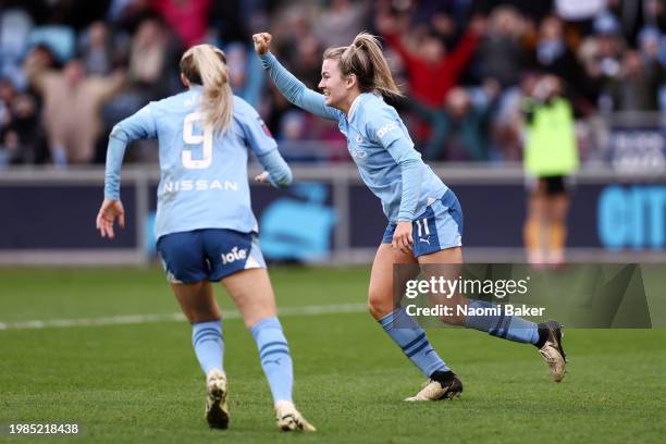
<svg viewBox="0 0 666 444">
<path fill-rule="evenodd" d="M 361 178 L 382 201 L 391 223 L 415 220 L 430 203 L 444 196 L 448 188 L 421 160 L 397 111 L 381 96 L 361 94 L 345 115 L 328 107 L 323 95 L 308 89 L 270 52 L 261 55 L 261 60 L 287 100 L 337 122 Z"/>
</svg>

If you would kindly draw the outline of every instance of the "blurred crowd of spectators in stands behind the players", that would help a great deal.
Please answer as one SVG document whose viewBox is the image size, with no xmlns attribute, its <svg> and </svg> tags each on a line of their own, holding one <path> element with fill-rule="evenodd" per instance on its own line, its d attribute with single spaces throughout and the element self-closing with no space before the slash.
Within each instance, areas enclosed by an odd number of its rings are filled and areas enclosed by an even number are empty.
<svg viewBox="0 0 666 444">
<path fill-rule="evenodd" d="M 310 88 L 325 48 L 381 36 L 405 92 L 393 104 L 428 160 L 519 161 L 521 103 L 545 77 L 574 109 L 583 161 L 607 113 L 666 111 L 664 0 L 0 0 L 0 165 L 103 162 L 114 123 L 183 89 L 180 57 L 199 42 L 226 52 L 235 94 L 288 159 L 349 161 L 334 124 L 268 82 L 260 30 Z M 126 159 L 156 157 L 137 143 Z"/>
</svg>

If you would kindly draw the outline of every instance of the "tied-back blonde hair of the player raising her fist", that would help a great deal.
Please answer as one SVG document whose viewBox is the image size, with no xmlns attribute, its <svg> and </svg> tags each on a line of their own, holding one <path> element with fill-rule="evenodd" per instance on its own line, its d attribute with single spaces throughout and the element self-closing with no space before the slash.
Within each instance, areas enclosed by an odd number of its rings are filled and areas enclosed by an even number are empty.
<svg viewBox="0 0 666 444">
<path fill-rule="evenodd" d="M 388 97 L 403 97 L 395 84 L 382 47 L 371 34 L 360 33 L 348 47 L 330 48 L 324 59 L 337 59 L 343 75 L 356 75 L 361 92 L 377 90 Z"/>
</svg>

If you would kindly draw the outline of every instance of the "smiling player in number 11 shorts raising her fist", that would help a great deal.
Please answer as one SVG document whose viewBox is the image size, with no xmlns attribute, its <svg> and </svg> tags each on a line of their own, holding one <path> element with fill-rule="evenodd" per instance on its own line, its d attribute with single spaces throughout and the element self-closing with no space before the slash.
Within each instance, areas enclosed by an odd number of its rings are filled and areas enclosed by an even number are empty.
<svg viewBox="0 0 666 444">
<path fill-rule="evenodd" d="M 323 94 L 308 89 L 278 62 L 269 51 L 271 38 L 268 33 L 252 36 L 255 50 L 278 89 L 297 107 L 337 122 L 361 178 L 382 201 L 388 226 L 372 263 L 368 307 L 388 336 L 429 378 L 424 387 L 407 400 L 458 396 L 462 383 L 434 351 L 423 330 L 394 299 L 393 266 L 461 263 L 462 212 L 455 194 L 414 149 L 395 109 L 382 99 L 382 95 L 397 97 L 400 92 L 377 38 L 361 33 L 351 45 L 324 52 L 319 83 Z M 423 267 L 424 273 L 428 270 Z M 452 303 L 474 309 L 494 307 L 464 297 Z M 536 325 L 504 313 L 449 317 L 444 321 L 534 344 L 554 380 L 564 378 L 562 331 L 555 321 Z"/>
</svg>

